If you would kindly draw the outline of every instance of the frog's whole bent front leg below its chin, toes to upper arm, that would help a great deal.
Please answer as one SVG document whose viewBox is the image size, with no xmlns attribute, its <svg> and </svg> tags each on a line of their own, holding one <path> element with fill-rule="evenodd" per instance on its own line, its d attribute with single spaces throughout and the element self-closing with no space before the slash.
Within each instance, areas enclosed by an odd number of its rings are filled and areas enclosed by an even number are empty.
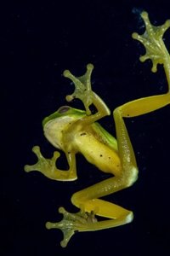
<svg viewBox="0 0 170 256">
<path fill-rule="evenodd" d="M 69 152 L 68 154 L 66 154 L 69 164 L 69 170 L 62 171 L 56 167 L 56 160 L 59 158 L 60 155 L 58 151 L 54 152 L 54 156 L 51 159 L 44 158 L 38 146 L 33 147 L 32 151 L 37 155 L 37 163 L 31 166 L 26 165 L 26 172 L 42 172 L 42 174 L 46 177 L 59 181 L 72 181 L 77 179 L 76 159 L 74 153 Z"/>
</svg>

